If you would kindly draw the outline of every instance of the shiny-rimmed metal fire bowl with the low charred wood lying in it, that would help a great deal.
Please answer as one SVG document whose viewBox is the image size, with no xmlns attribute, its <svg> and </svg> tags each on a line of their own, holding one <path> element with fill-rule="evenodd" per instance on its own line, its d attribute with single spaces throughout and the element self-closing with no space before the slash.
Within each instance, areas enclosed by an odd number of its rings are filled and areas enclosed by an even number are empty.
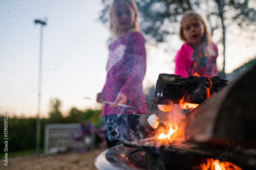
<svg viewBox="0 0 256 170">
<path fill-rule="evenodd" d="M 230 149 L 230 148 L 229 148 Z M 231 150 L 231 149 L 230 149 Z M 256 169 L 246 160 L 256 160 L 256 150 L 239 149 L 228 156 L 224 164 L 226 169 Z M 227 147 L 215 147 L 199 143 L 183 143 L 180 146 L 158 146 L 154 138 L 127 142 L 102 152 L 95 159 L 98 169 L 211 169 L 210 166 L 217 156 L 227 153 Z M 219 158 L 221 159 L 221 158 Z M 219 161 L 219 160 L 218 160 Z M 233 162 L 236 162 L 234 164 Z M 251 163 L 252 163 L 251 162 Z M 207 165 L 208 163 L 208 165 Z M 217 169 L 217 168 L 216 168 Z"/>
</svg>

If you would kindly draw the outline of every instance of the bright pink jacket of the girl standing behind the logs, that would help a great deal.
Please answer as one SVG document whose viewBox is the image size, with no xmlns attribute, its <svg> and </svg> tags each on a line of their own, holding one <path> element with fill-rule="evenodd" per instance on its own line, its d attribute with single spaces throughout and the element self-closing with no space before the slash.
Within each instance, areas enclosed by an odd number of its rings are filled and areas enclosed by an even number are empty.
<svg viewBox="0 0 256 170">
<path fill-rule="evenodd" d="M 207 62 L 200 67 L 201 72 L 199 73 L 202 77 L 213 77 L 218 73 L 216 59 L 218 57 L 218 48 L 213 43 L 215 56 L 208 58 Z M 180 75 L 182 77 L 193 76 L 196 71 L 194 67 L 193 58 L 194 48 L 188 43 L 184 43 L 175 57 L 175 75 Z M 205 54 L 202 54 L 205 55 Z"/>
</svg>

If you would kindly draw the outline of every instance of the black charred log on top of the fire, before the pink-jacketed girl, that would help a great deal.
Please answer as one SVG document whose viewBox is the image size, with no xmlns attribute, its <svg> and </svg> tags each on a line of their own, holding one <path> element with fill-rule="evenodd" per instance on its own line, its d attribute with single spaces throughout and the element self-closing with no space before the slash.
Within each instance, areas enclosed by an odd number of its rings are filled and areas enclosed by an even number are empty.
<svg viewBox="0 0 256 170">
<path fill-rule="evenodd" d="M 155 100 L 157 104 L 168 105 L 170 101 L 178 104 L 183 96 L 186 96 L 185 102 L 201 104 L 207 99 L 207 89 L 212 95 L 226 85 L 227 80 L 218 76 L 183 78 L 177 75 L 160 74 L 156 84 Z"/>
</svg>

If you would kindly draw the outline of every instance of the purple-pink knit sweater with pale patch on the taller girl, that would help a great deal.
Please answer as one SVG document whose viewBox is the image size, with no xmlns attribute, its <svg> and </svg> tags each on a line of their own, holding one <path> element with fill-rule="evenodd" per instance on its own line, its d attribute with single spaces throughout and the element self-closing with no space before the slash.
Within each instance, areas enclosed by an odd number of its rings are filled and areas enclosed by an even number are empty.
<svg viewBox="0 0 256 170">
<path fill-rule="evenodd" d="M 142 81 L 146 71 L 145 39 L 140 32 L 132 32 L 119 37 L 109 46 L 107 76 L 102 92 L 104 100 L 114 102 L 119 92 L 125 94 L 127 105 L 145 103 Z M 126 108 L 131 114 L 133 108 Z M 142 105 L 135 113 L 147 113 L 147 105 Z M 102 116 L 125 113 L 124 107 L 111 108 L 104 104 Z"/>
</svg>

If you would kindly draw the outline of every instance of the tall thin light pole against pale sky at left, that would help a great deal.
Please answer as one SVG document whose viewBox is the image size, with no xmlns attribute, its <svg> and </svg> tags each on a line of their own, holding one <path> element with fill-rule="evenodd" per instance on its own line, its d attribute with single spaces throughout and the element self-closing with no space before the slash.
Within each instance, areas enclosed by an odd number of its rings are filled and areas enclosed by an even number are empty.
<svg viewBox="0 0 256 170">
<path fill-rule="evenodd" d="M 41 70 L 42 70 L 42 28 L 46 26 L 46 18 L 44 21 L 35 19 L 34 22 L 40 23 L 40 50 L 39 50 L 39 85 L 38 85 L 38 110 L 36 120 L 36 155 L 39 156 L 39 141 L 40 141 L 40 107 L 41 107 Z"/>
</svg>

